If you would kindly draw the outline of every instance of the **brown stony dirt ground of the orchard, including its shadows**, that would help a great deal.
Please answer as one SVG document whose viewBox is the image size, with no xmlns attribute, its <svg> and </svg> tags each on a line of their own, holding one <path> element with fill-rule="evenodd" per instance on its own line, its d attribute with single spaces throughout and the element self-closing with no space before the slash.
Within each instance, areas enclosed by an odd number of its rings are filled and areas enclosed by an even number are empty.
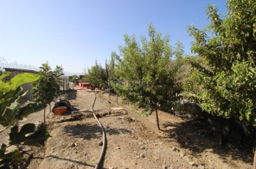
<svg viewBox="0 0 256 169">
<path fill-rule="evenodd" d="M 79 110 L 90 110 L 94 93 L 70 91 L 68 99 Z M 124 110 L 111 110 L 123 107 Z M 220 148 L 203 129 L 188 120 L 159 112 L 161 131 L 155 114 L 139 115 L 135 105 L 112 95 L 97 93 L 95 114 L 105 128 L 107 150 L 101 168 L 252 168 L 252 155 L 233 147 Z M 43 120 L 36 112 L 20 122 Z M 95 168 L 102 151 L 102 131 L 91 113 L 55 116 L 47 112 L 51 137 L 46 146 L 28 148 L 33 153 L 27 168 Z M 7 132 L 1 143 L 8 142 Z"/>
</svg>

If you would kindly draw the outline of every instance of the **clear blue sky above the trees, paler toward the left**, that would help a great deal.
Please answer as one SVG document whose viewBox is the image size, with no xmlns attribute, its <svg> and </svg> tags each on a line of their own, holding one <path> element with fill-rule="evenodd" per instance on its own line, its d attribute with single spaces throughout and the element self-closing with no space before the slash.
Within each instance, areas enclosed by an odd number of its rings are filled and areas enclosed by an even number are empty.
<svg viewBox="0 0 256 169">
<path fill-rule="evenodd" d="M 118 54 L 124 34 L 148 35 L 149 23 L 193 55 L 187 27 L 208 25 L 209 4 L 226 14 L 225 0 L 0 0 L 0 58 L 82 74 Z"/>
</svg>

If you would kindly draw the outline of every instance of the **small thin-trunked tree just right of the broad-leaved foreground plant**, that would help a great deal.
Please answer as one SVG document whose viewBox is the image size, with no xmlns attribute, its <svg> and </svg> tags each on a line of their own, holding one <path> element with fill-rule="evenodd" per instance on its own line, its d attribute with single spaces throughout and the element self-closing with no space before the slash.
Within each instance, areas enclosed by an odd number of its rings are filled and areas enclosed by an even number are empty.
<svg viewBox="0 0 256 169">
<path fill-rule="evenodd" d="M 45 103 L 50 106 L 50 102 L 53 98 L 58 95 L 60 91 L 60 86 L 58 81 L 53 76 L 53 72 L 50 71 L 50 66 L 48 63 L 42 64 L 40 66 L 41 71 L 39 71 L 40 78 L 36 81 L 33 88 L 33 97 L 38 103 Z M 46 108 L 43 112 L 43 124 L 46 126 Z"/>
</svg>

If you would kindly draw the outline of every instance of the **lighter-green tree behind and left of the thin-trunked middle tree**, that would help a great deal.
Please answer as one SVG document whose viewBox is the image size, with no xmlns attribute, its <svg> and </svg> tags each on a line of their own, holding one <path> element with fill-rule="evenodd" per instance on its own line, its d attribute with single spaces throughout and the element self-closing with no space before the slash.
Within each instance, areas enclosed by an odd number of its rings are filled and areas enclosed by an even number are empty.
<svg viewBox="0 0 256 169">
<path fill-rule="evenodd" d="M 144 77 L 144 55 L 136 41 L 135 35 L 124 35 L 124 47 L 119 47 L 120 54 L 112 53 L 112 59 L 117 61 L 114 88 L 120 95 L 125 95 L 130 101 L 139 101 L 139 89 Z"/>
</svg>

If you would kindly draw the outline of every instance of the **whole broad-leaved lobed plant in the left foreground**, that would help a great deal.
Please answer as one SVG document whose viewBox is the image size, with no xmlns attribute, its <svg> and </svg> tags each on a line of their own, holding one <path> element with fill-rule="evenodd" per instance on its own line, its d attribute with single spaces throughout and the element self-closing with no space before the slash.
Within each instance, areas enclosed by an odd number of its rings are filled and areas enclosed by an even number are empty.
<svg viewBox="0 0 256 169">
<path fill-rule="evenodd" d="M 42 146 L 50 136 L 44 127 L 36 130 L 35 124 L 25 124 L 18 132 L 18 126 L 14 125 L 18 120 L 33 112 L 46 107 L 43 103 L 21 103 L 20 100 L 26 95 L 21 85 L 38 80 L 37 74 L 18 74 L 10 81 L 3 81 L 10 73 L 0 76 L 0 124 L 6 129 L 11 127 L 9 145 L 1 144 L 0 168 L 18 168 L 18 163 L 23 161 L 23 154 L 18 150 L 6 153 L 9 146 L 28 145 Z"/>
</svg>

